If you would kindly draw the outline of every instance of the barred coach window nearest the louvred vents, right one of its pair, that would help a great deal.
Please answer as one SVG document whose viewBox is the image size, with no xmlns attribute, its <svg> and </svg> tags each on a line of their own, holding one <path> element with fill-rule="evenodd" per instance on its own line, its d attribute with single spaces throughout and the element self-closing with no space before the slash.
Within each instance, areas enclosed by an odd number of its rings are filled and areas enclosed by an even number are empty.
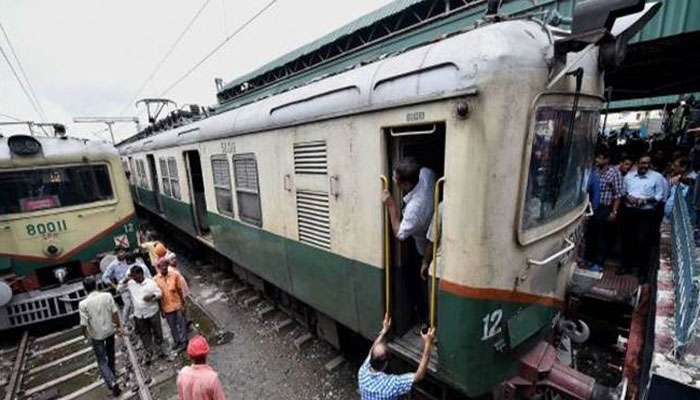
<svg viewBox="0 0 700 400">
<path fill-rule="evenodd" d="M 233 174 L 236 179 L 238 215 L 242 221 L 262 226 L 258 165 L 255 161 L 255 155 L 248 153 L 233 156 Z"/>
</svg>

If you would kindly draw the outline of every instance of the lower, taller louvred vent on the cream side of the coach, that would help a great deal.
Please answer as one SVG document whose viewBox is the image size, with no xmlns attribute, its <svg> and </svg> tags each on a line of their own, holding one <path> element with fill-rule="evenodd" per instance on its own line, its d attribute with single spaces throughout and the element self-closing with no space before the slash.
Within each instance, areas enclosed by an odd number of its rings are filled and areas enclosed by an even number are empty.
<svg viewBox="0 0 700 400">
<path fill-rule="evenodd" d="M 330 210 L 327 192 L 297 190 L 299 241 L 331 248 Z"/>
</svg>

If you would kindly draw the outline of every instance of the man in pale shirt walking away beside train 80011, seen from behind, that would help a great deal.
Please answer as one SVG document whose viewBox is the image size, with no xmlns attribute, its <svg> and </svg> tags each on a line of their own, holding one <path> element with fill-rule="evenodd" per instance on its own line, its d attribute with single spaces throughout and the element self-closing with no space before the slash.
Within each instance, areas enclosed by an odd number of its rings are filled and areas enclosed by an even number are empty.
<svg viewBox="0 0 700 400">
<path fill-rule="evenodd" d="M 114 335 L 121 330 L 117 314 L 119 310 L 109 292 L 97 290 L 97 282 L 92 276 L 83 279 L 83 287 L 88 294 L 78 303 L 83 335 L 92 344 L 102 379 L 112 394 L 119 396 L 122 390 L 117 383 L 114 365 Z"/>
</svg>

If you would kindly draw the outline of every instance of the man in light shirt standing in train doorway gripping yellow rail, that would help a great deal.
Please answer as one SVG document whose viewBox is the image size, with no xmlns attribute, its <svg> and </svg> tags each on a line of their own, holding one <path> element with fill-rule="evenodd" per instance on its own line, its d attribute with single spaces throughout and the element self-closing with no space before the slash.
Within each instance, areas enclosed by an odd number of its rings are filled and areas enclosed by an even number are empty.
<svg viewBox="0 0 700 400">
<path fill-rule="evenodd" d="M 413 157 L 407 157 L 399 161 L 394 169 L 393 180 L 401 192 L 406 193 L 403 197 L 405 204 L 403 217 L 400 216 L 399 206 L 388 190 L 382 193 L 382 202 L 389 211 L 394 236 L 400 241 L 413 237 L 415 245 L 408 246 L 410 255 L 406 265 L 408 269 L 406 287 L 408 297 L 415 302 L 418 319 L 423 324 L 422 330 L 425 330 L 428 304 L 425 285 L 422 284 L 420 277 L 420 268 L 425 256 L 425 235 L 433 215 L 435 173 L 430 168 L 421 167 Z"/>
</svg>

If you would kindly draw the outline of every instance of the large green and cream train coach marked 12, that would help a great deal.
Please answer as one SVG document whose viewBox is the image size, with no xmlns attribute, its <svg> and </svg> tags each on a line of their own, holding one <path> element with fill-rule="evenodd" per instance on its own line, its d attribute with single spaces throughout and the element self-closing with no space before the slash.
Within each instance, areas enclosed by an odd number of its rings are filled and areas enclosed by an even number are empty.
<svg viewBox="0 0 700 400">
<path fill-rule="evenodd" d="M 411 335 L 410 254 L 394 243 L 385 274 L 380 177 L 405 156 L 431 167 L 445 178 L 433 374 L 479 396 L 547 338 L 574 269 L 604 64 L 595 41 L 562 54 L 567 38 L 485 23 L 118 147 L 141 206 L 366 338 L 387 295 Z"/>
</svg>

